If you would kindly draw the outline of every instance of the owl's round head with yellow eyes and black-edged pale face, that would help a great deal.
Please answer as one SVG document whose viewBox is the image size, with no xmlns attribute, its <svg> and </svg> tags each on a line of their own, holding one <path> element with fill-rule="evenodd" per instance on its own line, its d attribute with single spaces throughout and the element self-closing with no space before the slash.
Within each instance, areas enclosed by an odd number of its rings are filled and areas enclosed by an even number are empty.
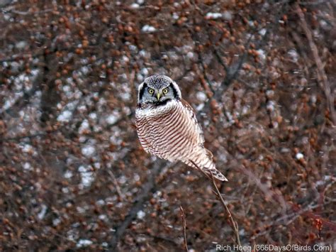
<svg viewBox="0 0 336 252">
<path fill-rule="evenodd" d="M 138 104 L 166 104 L 169 100 L 181 99 L 176 82 L 165 75 L 152 75 L 139 85 Z"/>
</svg>

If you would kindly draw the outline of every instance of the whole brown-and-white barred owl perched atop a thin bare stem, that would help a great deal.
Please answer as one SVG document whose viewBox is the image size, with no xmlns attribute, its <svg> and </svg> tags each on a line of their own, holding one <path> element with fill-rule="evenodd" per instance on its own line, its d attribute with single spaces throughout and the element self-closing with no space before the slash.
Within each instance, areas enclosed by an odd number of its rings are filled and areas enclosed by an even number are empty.
<svg viewBox="0 0 336 252">
<path fill-rule="evenodd" d="M 139 85 L 135 124 L 147 153 L 171 162 L 180 160 L 228 181 L 215 168 L 211 151 L 203 146 L 203 131 L 194 109 L 182 99 L 179 86 L 169 77 L 152 75 Z"/>
</svg>

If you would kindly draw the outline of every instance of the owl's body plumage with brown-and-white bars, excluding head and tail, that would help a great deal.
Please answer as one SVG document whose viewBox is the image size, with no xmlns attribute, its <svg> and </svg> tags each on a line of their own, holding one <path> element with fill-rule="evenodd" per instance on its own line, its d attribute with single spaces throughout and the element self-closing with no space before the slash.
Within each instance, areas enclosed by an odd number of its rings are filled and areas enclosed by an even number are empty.
<svg viewBox="0 0 336 252">
<path fill-rule="evenodd" d="M 140 143 L 147 153 L 185 163 L 192 155 L 204 153 L 201 128 L 194 112 L 183 102 L 145 105 L 137 109 L 135 117 Z"/>
</svg>

